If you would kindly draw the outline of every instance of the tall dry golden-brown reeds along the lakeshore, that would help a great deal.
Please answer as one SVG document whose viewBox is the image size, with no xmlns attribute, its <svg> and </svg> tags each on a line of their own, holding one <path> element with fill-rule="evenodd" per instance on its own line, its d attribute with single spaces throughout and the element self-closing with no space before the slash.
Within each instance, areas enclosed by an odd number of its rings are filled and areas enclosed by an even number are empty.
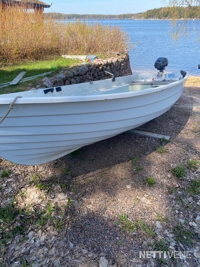
<svg viewBox="0 0 200 267">
<path fill-rule="evenodd" d="M 1 1 L 0 1 L 1 2 Z M 0 62 L 38 60 L 58 55 L 111 56 L 131 47 L 128 35 L 117 27 L 86 22 L 43 20 L 41 12 L 0 4 Z"/>
</svg>

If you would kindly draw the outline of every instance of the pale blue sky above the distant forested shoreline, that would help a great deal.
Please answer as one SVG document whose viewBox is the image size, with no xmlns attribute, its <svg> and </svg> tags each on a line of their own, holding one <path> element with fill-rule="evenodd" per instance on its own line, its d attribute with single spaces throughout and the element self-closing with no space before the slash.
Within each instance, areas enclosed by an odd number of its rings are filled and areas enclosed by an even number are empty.
<svg viewBox="0 0 200 267">
<path fill-rule="evenodd" d="M 125 14 L 163 7 L 162 0 L 43 0 L 52 6 L 45 12 L 63 14 Z"/>
</svg>

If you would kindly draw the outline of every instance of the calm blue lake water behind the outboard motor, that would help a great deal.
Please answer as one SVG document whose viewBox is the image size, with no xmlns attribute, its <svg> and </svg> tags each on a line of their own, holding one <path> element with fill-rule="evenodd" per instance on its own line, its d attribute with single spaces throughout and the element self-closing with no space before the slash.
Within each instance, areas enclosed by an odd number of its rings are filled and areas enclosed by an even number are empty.
<svg viewBox="0 0 200 267">
<path fill-rule="evenodd" d="M 170 21 L 157 20 L 88 20 L 90 23 L 118 26 L 126 31 L 133 44 L 138 44 L 129 52 L 132 72 L 155 71 L 154 63 L 159 57 L 168 59 L 167 72 L 188 70 L 191 75 L 199 76 L 200 43 L 195 41 L 196 33 L 191 27 L 190 37 L 181 38 L 175 43 L 170 38 Z M 197 21 L 191 21 L 195 25 Z"/>
</svg>

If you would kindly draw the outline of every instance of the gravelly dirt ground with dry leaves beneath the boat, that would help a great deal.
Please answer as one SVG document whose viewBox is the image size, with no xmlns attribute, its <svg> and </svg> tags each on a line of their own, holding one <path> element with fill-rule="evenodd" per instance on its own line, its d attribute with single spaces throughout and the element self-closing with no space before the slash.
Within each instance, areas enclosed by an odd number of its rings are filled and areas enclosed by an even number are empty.
<svg viewBox="0 0 200 267">
<path fill-rule="evenodd" d="M 43 165 L 1 159 L 0 266 L 200 266 L 200 78 L 139 130 L 170 141 L 123 133 Z"/>
</svg>

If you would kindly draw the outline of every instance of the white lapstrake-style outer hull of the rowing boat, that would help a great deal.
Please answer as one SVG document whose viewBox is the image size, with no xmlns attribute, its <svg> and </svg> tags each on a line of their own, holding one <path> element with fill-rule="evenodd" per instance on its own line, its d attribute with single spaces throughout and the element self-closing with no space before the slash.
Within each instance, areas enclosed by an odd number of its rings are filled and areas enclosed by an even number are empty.
<svg viewBox="0 0 200 267">
<path fill-rule="evenodd" d="M 0 156 L 21 165 L 43 164 L 137 128 L 167 112 L 183 93 L 184 82 L 131 95 L 97 93 L 82 100 L 37 102 L 22 97 L 0 124 Z M 1 115 L 7 110 L 8 104 L 0 105 Z"/>
</svg>

